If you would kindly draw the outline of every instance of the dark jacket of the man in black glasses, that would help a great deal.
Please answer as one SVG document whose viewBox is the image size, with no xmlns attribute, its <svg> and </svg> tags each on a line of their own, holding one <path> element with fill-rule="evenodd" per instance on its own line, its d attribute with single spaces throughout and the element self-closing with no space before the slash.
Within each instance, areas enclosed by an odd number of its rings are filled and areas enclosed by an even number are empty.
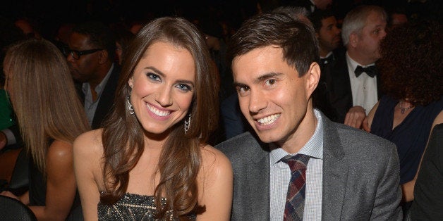
<svg viewBox="0 0 443 221">
<path fill-rule="evenodd" d="M 116 92 L 117 84 L 119 83 L 120 67 L 114 64 L 114 69 L 108 78 L 107 84 L 104 86 L 102 91 L 102 96 L 100 96 L 99 103 L 97 104 L 97 109 L 95 110 L 94 118 L 92 119 L 92 130 L 102 127 L 102 122 L 106 119 L 107 115 L 111 113 L 112 106 L 114 104 L 114 97 Z M 82 90 L 82 84 L 75 85 L 77 93 L 80 99 L 85 104 L 85 94 Z"/>
</svg>

